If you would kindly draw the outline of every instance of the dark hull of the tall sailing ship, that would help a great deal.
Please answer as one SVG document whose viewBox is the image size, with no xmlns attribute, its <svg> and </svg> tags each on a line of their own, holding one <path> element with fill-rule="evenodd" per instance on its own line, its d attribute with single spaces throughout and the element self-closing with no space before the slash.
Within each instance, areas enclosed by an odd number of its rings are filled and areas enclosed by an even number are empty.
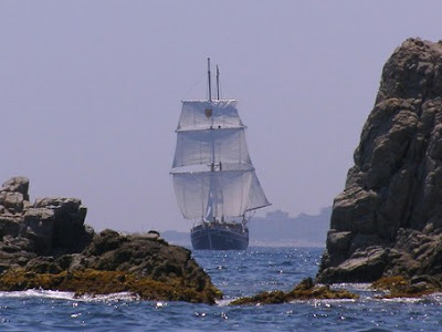
<svg viewBox="0 0 442 332">
<path fill-rule="evenodd" d="M 245 250 L 249 229 L 241 224 L 204 222 L 191 229 L 190 239 L 194 250 Z"/>
</svg>

